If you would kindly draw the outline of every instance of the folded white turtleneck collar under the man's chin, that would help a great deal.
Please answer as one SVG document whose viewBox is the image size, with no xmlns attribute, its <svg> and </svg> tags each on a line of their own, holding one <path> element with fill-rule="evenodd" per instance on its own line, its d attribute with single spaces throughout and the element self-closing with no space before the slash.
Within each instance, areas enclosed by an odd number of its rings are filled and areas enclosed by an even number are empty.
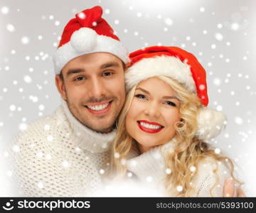
<svg viewBox="0 0 256 213">
<path fill-rule="evenodd" d="M 110 149 L 112 141 L 114 141 L 114 137 L 116 136 L 116 130 L 110 133 L 93 131 L 81 124 L 80 121 L 73 116 L 65 101 L 62 101 L 61 107 L 75 135 L 74 143 L 76 143 L 76 146 L 92 153 L 102 153 Z"/>
</svg>

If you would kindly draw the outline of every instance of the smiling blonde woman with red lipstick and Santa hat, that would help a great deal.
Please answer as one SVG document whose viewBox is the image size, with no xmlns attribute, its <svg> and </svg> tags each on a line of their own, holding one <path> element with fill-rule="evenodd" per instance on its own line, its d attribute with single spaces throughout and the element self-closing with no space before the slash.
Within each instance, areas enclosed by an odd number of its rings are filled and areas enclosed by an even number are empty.
<svg viewBox="0 0 256 213">
<path fill-rule="evenodd" d="M 176 47 L 149 47 L 130 58 L 112 171 L 149 182 L 164 195 L 222 197 L 233 162 L 206 142 L 225 126 L 222 113 L 206 108 L 206 71 Z M 129 159 L 136 148 L 141 155 Z"/>
</svg>

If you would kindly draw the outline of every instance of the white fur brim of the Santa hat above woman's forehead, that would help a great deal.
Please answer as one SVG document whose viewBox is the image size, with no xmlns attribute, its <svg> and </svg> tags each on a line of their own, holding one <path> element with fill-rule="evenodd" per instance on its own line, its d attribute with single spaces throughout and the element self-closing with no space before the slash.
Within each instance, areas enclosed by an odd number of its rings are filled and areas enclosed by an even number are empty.
<svg viewBox="0 0 256 213">
<path fill-rule="evenodd" d="M 144 58 L 129 67 L 125 73 L 127 91 L 142 80 L 156 75 L 166 75 L 177 80 L 190 92 L 196 92 L 191 70 L 186 62 L 174 56 L 156 56 Z"/>
</svg>

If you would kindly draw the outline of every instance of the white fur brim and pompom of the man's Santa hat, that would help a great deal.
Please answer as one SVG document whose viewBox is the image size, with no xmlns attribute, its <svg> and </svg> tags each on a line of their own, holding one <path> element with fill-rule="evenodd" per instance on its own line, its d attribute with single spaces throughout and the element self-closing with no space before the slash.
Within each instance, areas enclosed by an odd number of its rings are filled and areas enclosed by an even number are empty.
<svg viewBox="0 0 256 213">
<path fill-rule="evenodd" d="M 114 38 L 98 35 L 91 28 L 80 28 L 71 36 L 70 42 L 58 48 L 53 55 L 55 74 L 73 58 L 88 53 L 105 52 L 120 58 L 124 63 L 129 62 L 128 50 Z"/>
</svg>

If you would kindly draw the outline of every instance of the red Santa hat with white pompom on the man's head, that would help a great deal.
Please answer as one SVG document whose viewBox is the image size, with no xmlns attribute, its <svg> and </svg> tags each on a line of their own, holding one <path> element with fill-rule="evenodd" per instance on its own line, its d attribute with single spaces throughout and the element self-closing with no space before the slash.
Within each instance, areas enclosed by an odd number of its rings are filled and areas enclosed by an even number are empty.
<svg viewBox="0 0 256 213">
<path fill-rule="evenodd" d="M 95 6 L 75 15 L 65 26 L 60 44 L 53 55 L 55 73 L 73 58 L 87 53 L 112 53 L 129 62 L 127 48 L 119 41 L 111 26 L 102 18 L 102 8 Z"/>
</svg>

